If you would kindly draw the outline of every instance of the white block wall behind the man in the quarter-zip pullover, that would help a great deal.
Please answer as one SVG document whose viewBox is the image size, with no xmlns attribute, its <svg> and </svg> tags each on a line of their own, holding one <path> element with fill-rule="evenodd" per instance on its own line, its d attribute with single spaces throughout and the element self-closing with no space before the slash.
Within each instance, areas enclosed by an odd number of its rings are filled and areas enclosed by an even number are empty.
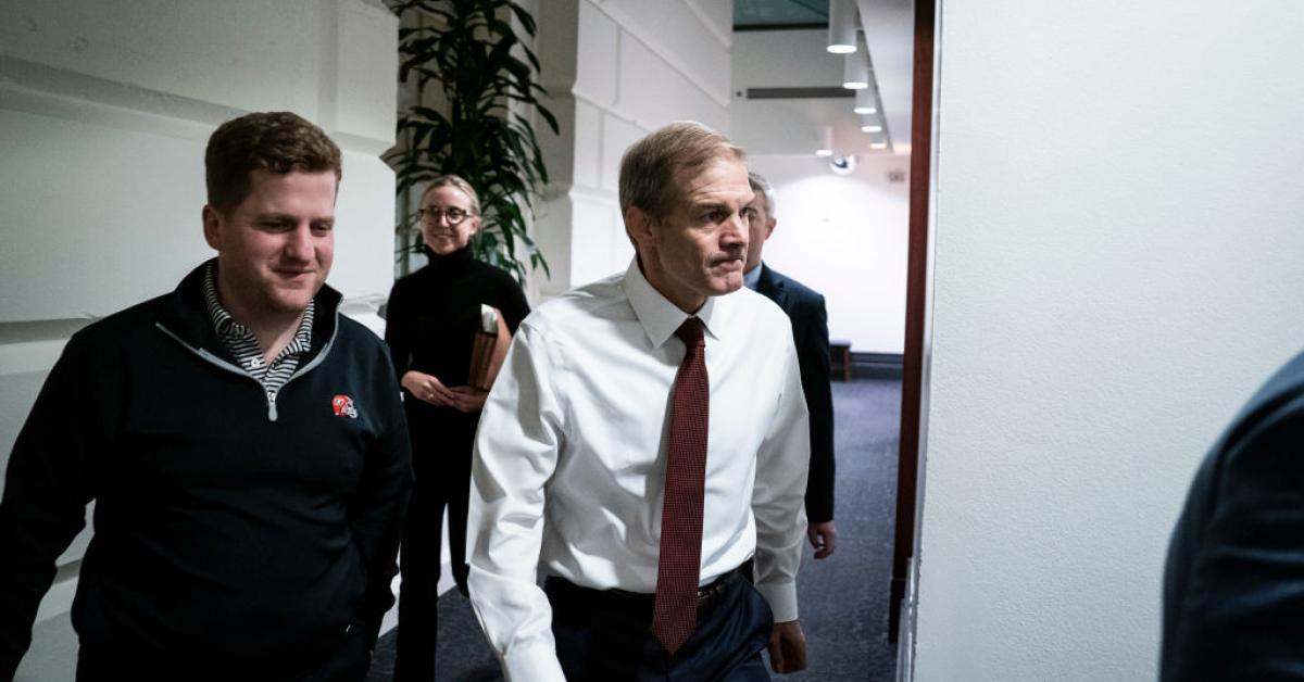
<svg viewBox="0 0 1304 682">
<path fill-rule="evenodd" d="M 0 456 L 76 329 L 213 253 L 203 147 L 227 119 L 292 110 L 325 128 L 344 151 L 330 283 L 389 291 L 395 26 L 372 0 L 0 5 Z M 76 571 L 60 575 L 18 679 L 72 679 Z"/>
</svg>

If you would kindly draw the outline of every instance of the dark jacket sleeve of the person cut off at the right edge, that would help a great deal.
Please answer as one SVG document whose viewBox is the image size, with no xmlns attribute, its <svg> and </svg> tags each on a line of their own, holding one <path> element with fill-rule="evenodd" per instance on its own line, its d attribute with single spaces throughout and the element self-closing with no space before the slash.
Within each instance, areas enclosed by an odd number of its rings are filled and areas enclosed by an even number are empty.
<svg viewBox="0 0 1304 682">
<path fill-rule="evenodd" d="M 1163 587 L 1162 682 L 1304 679 L 1304 355 L 1205 456 Z"/>
</svg>

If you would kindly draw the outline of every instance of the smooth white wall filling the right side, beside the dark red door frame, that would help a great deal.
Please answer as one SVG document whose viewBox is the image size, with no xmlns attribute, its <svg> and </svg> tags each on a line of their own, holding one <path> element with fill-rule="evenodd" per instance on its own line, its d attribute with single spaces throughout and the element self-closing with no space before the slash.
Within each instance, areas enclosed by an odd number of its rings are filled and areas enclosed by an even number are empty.
<svg viewBox="0 0 1304 682">
<path fill-rule="evenodd" d="M 1153 681 L 1191 476 L 1304 346 L 1304 5 L 939 18 L 915 679 Z"/>
</svg>

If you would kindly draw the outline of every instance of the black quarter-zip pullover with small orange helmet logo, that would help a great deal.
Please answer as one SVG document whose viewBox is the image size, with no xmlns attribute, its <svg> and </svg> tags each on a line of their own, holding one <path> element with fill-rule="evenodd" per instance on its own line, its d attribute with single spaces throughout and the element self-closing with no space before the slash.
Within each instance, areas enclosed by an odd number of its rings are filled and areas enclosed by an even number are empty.
<svg viewBox="0 0 1304 682">
<path fill-rule="evenodd" d="M 262 679 L 374 643 L 412 479 L 385 344 L 322 287 L 312 351 L 269 399 L 202 276 L 87 326 L 51 370 L 0 502 L 0 678 L 91 499 L 83 647 Z"/>
</svg>

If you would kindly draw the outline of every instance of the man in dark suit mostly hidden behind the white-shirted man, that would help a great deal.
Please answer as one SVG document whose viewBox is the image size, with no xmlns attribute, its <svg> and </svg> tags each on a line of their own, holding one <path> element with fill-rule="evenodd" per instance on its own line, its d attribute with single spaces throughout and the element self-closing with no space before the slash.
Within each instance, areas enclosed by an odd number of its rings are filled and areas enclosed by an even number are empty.
<svg viewBox="0 0 1304 682">
<path fill-rule="evenodd" d="M 747 173 L 756 197 L 747 205 L 748 246 L 743 286 L 778 304 L 793 322 L 801 364 L 802 391 L 811 423 L 811 466 L 806 482 L 806 535 L 823 559 L 837 548 L 833 523 L 833 393 L 828 385 L 828 313 L 824 297 L 762 262 L 760 252 L 775 232 L 775 189 L 755 172 Z"/>
</svg>

